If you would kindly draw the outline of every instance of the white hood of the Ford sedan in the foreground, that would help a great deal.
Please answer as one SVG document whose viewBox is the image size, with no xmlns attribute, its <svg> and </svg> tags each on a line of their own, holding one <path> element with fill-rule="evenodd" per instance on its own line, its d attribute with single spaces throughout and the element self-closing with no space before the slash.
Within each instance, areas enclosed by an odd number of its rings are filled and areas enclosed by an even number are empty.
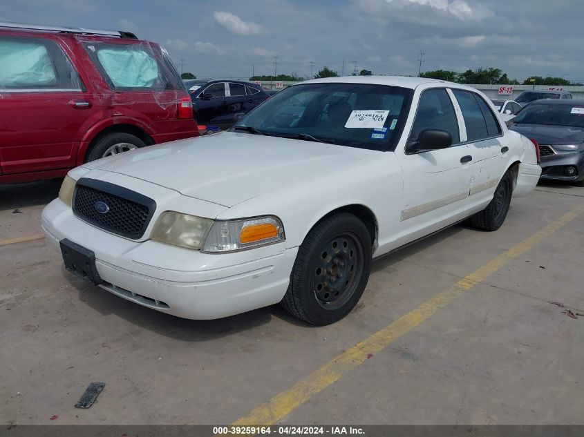
<svg viewBox="0 0 584 437">
<path fill-rule="evenodd" d="M 149 146 L 84 167 L 128 175 L 230 207 L 314 175 L 338 175 L 339 167 L 377 153 L 298 139 L 225 132 Z"/>
</svg>

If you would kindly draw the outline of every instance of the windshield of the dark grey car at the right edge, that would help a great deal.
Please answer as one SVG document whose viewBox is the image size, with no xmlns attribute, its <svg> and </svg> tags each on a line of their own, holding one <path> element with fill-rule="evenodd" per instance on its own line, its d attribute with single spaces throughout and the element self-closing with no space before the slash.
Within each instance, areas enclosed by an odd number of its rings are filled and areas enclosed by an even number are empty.
<svg viewBox="0 0 584 437">
<path fill-rule="evenodd" d="M 514 124 L 546 124 L 584 128 L 584 105 L 531 104 L 519 113 Z"/>
</svg>

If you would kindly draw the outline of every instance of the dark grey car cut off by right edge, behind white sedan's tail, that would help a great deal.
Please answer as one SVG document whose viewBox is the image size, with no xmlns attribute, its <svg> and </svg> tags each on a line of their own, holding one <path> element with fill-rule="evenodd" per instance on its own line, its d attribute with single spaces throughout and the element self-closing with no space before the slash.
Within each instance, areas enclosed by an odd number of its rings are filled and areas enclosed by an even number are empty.
<svg viewBox="0 0 584 437">
<path fill-rule="evenodd" d="M 534 101 L 509 129 L 538 143 L 541 179 L 584 186 L 584 100 Z"/>
</svg>

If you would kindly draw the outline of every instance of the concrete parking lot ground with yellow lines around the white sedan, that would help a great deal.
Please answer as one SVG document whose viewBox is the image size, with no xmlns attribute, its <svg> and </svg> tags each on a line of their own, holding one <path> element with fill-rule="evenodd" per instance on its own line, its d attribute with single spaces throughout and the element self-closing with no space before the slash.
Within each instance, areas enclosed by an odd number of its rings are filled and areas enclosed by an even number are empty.
<svg viewBox="0 0 584 437">
<path fill-rule="evenodd" d="M 311 327 L 279 306 L 183 320 L 75 278 L 39 237 L 59 183 L 0 186 L 2 423 L 584 424 L 584 316 L 563 313 L 584 313 L 584 188 L 377 260 L 357 308 Z"/>
</svg>

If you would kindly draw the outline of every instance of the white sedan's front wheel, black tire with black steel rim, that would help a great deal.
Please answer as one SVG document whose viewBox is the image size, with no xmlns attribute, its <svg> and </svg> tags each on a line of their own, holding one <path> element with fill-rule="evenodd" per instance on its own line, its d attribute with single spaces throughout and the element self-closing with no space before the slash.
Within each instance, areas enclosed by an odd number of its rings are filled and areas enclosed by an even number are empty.
<svg viewBox="0 0 584 437">
<path fill-rule="evenodd" d="M 355 307 L 369 279 L 372 242 L 361 220 L 349 213 L 314 225 L 301 244 L 281 301 L 305 322 L 337 322 Z"/>
</svg>

